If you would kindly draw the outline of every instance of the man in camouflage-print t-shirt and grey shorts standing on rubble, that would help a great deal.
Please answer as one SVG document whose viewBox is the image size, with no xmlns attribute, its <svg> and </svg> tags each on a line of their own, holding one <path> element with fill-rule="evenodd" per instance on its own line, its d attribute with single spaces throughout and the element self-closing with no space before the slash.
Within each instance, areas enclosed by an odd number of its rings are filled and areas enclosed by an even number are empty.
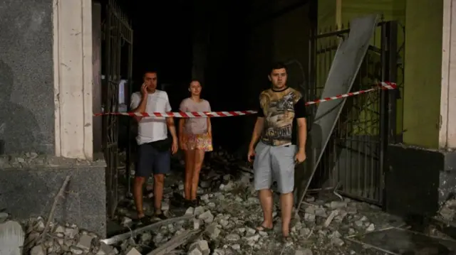
<svg viewBox="0 0 456 255">
<path fill-rule="evenodd" d="M 272 86 L 259 96 L 258 118 L 248 158 L 252 162 L 255 156 L 254 186 L 255 190 L 259 190 L 264 215 L 264 221 L 257 230 L 272 229 L 274 203 L 271 184 L 275 180 L 281 192 L 282 234 L 288 241 L 293 210 L 294 166 L 306 160 L 307 114 L 301 93 L 286 86 L 286 66 L 283 63 L 274 64 L 268 77 Z"/>
</svg>

